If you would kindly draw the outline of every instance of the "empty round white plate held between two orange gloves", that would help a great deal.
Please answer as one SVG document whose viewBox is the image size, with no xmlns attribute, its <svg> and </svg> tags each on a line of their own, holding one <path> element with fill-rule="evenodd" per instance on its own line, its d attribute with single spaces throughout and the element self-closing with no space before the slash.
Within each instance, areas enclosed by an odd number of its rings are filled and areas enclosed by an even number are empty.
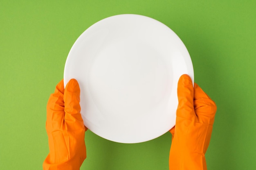
<svg viewBox="0 0 256 170">
<path fill-rule="evenodd" d="M 189 52 L 150 17 L 115 15 L 88 28 L 68 54 L 64 84 L 81 88 L 81 114 L 97 135 L 121 143 L 155 139 L 175 125 L 177 82 L 193 80 Z"/>
</svg>

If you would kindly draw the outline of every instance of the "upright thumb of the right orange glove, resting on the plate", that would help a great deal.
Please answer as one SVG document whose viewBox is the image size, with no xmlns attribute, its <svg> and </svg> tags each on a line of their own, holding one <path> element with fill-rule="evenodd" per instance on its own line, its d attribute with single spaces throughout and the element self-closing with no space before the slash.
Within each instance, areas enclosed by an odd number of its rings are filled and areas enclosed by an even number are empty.
<svg viewBox="0 0 256 170">
<path fill-rule="evenodd" d="M 179 105 L 176 115 L 185 119 L 192 120 L 195 117 L 194 111 L 194 89 L 191 78 L 187 74 L 183 74 L 177 87 L 177 95 Z"/>
</svg>

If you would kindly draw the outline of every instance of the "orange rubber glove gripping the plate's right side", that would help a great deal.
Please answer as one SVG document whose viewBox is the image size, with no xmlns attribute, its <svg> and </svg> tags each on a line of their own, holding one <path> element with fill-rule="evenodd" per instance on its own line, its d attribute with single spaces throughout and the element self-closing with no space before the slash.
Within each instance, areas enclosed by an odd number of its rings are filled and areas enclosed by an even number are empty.
<svg viewBox="0 0 256 170">
<path fill-rule="evenodd" d="M 176 125 L 170 130 L 170 170 L 207 170 L 204 154 L 209 146 L 216 104 L 188 75 L 178 82 Z"/>
</svg>

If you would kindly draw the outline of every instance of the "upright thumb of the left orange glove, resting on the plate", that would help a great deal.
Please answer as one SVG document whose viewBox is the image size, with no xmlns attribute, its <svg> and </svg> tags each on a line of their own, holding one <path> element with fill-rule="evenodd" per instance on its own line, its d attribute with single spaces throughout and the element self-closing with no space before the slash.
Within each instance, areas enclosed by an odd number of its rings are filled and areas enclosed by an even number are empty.
<svg viewBox="0 0 256 170">
<path fill-rule="evenodd" d="M 71 79 L 64 91 L 65 124 L 69 130 L 84 129 L 80 107 L 80 87 L 76 79 Z"/>
</svg>

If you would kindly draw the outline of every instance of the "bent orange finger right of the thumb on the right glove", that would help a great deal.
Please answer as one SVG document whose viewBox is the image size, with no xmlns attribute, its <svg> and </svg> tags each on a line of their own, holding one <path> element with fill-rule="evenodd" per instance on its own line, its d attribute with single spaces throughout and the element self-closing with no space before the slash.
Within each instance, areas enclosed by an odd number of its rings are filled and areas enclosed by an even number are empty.
<svg viewBox="0 0 256 170">
<path fill-rule="evenodd" d="M 213 124 L 217 110 L 216 104 L 196 83 L 194 85 L 194 108 L 199 122 Z"/>
</svg>

